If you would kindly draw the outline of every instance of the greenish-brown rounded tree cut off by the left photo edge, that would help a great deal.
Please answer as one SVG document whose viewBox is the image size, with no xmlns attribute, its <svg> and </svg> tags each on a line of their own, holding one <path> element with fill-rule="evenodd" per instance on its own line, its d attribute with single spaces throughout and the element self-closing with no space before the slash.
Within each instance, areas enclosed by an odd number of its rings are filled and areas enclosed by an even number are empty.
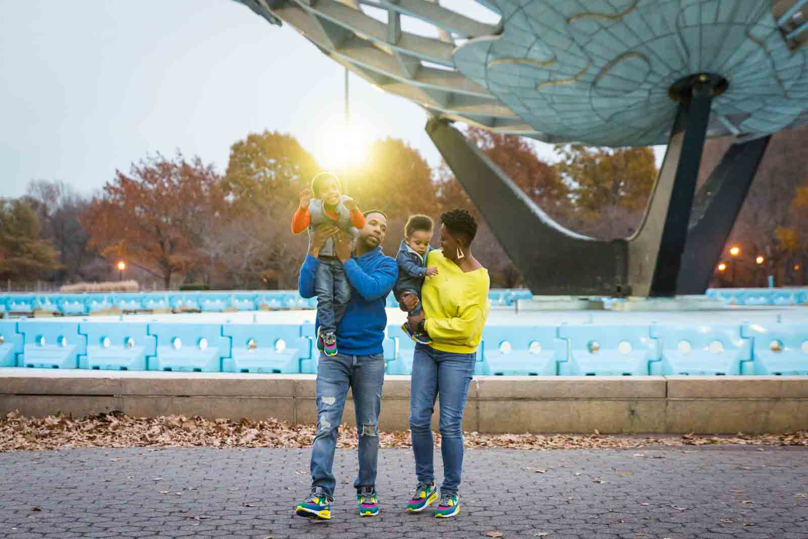
<svg viewBox="0 0 808 539">
<path fill-rule="evenodd" d="M 40 239 L 40 222 L 31 206 L 0 199 L 0 279 L 36 280 L 58 267 L 53 245 Z"/>
</svg>

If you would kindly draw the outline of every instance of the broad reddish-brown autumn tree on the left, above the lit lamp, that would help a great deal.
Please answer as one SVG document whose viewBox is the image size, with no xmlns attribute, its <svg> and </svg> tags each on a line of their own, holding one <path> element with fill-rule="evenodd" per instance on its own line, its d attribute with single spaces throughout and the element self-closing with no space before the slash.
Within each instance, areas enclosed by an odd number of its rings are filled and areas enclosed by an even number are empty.
<svg viewBox="0 0 808 539">
<path fill-rule="evenodd" d="M 221 177 L 212 165 L 183 154 L 161 154 L 116 171 L 80 221 L 90 246 L 120 257 L 162 279 L 166 288 L 179 272 L 201 267 L 199 246 L 213 234 L 223 209 Z"/>
</svg>

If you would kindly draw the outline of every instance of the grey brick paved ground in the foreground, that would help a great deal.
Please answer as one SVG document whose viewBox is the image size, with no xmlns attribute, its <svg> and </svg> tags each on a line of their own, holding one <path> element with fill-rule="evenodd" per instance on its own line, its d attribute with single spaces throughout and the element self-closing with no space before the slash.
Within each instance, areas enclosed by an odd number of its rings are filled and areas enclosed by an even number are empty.
<svg viewBox="0 0 808 539">
<path fill-rule="evenodd" d="M 461 515 L 446 520 L 402 511 L 415 486 L 406 449 L 381 451 L 381 514 L 360 518 L 356 453 L 339 450 L 324 523 L 293 516 L 308 459 L 307 449 L 0 453 L 0 537 L 808 537 L 806 448 L 471 450 Z"/>
</svg>

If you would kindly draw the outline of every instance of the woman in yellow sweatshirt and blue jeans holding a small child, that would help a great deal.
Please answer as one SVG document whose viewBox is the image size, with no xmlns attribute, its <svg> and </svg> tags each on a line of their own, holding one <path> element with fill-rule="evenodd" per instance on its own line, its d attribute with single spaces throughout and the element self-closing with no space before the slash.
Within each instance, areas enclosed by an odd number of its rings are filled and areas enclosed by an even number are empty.
<svg viewBox="0 0 808 539">
<path fill-rule="evenodd" d="M 432 463 L 430 421 L 435 399 L 440 395 L 440 453 L 444 460 L 444 482 L 435 516 L 460 512 L 458 488 L 463 467 L 463 411 L 469 382 L 477 361 L 482 326 L 488 316 L 490 280 L 471 254 L 477 221 L 465 209 L 440 216 L 440 251 L 431 251 L 427 266 L 438 274 L 423 284 L 423 310 L 407 318 L 413 333 L 426 333 L 431 341 L 416 344 L 410 382 L 410 433 L 415 453 L 418 486 L 407 504 L 410 512 L 421 512 L 438 499 Z M 402 296 L 402 307 L 412 311 L 418 304 L 414 294 Z"/>
</svg>

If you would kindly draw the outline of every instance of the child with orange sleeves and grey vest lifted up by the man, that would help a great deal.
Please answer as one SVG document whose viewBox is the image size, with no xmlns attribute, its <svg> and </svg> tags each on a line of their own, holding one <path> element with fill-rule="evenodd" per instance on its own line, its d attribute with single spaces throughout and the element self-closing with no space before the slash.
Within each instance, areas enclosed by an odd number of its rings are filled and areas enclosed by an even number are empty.
<svg viewBox="0 0 808 539">
<path fill-rule="evenodd" d="M 300 206 L 292 217 L 292 232 L 309 231 L 309 246 L 314 227 L 326 223 L 338 226 L 347 232 L 351 242 L 356 241 L 358 229 L 364 228 L 364 216 L 356 207 L 356 201 L 342 194 L 339 178 L 330 172 L 321 172 L 311 180 L 311 188 L 301 192 Z M 320 264 L 314 277 L 317 293 L 317 347 L 326 356 L 337 353 L 336 331 L 351 300 L 351 285 L 348 284 L 343 263 L 337 257 L 334 238 L 326 239 L 318 255 Z"/>
</svg>

